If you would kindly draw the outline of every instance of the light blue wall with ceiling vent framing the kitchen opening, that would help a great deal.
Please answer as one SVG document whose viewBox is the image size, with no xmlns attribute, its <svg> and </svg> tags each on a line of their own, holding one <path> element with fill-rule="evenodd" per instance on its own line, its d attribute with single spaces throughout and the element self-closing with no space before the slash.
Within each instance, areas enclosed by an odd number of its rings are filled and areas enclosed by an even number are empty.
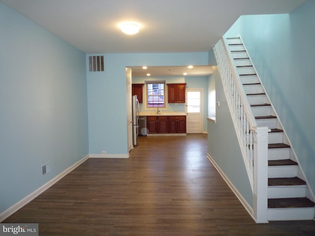
<svg viewBox="0 0 315 236">
<path fill-rule="evenodd" d="M 91 55 L 87 55 L 91 56 Z M 104 54 L 105 71 L 87 72 L 89 152 L 127 154 L 126 67 L 206 65 L 208 53 Z"/>
</svg>

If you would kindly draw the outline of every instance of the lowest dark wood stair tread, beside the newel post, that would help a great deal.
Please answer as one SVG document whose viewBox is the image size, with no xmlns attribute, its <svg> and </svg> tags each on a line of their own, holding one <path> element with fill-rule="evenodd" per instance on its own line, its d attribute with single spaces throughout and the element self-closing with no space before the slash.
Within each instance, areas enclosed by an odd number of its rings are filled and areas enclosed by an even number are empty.
<svg viewBox="0 0 315 236">
<path fill-rule="evenodd" d="M 308 198 L 274 198 L 268 199 L 268 208 L 315 207 Z"/>
</svg>

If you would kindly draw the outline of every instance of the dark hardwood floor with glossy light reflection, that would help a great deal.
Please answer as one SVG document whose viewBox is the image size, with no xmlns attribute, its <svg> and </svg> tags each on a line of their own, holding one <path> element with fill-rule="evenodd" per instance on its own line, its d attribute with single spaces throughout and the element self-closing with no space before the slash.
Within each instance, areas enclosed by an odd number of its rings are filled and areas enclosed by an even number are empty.
<svg viewBox="0 0 315 236">
<path fill-rule="evenodd" d="M 40 236 L 314 236 L 314 221 L 255 224 L 206 157 L 207 136 L 140 137 L 90 158 L 2 223 Z"/>
</svg>

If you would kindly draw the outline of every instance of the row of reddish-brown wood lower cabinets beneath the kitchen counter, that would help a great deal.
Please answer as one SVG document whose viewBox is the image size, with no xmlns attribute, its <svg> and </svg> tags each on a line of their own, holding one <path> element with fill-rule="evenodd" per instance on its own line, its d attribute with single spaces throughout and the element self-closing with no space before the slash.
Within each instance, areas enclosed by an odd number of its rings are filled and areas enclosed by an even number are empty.
<svg viewBox="0 0 315 236">
<path fill-rule="evenodd" d="M 186 133 L 186 116 L 149 116 L 148 134 Z"/>
</svg>

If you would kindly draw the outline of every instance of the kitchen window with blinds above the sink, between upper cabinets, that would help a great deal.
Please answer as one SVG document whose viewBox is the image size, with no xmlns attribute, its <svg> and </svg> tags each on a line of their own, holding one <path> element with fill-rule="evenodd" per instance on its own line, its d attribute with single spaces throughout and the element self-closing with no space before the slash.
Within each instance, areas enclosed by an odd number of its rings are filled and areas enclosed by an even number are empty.
<svg viewBox="0 0 315 236">
<path fill-rule="evenodd" d="M 164 83 L 147 83 L 148 107 L 165 107 Z"/>
</svg>

